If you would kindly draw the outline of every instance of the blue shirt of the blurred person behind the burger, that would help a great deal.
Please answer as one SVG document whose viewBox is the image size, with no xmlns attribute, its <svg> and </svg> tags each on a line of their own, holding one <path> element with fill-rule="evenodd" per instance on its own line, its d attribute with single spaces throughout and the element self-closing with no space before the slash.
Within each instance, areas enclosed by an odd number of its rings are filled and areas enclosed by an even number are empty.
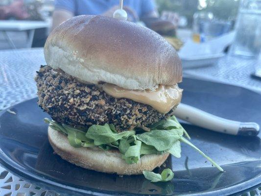
<svg viewBox="0 0 261 196">
<path fill-rule="evenodd" d="M 71 11 L 74 16 L 101 15 L 115 5 L 119 0 L 55 0 L 55 8 Z M 139 17 L 155 10 L 154 0 L 124 0 L 123 6 L 136 11 Z"/>
</svg>

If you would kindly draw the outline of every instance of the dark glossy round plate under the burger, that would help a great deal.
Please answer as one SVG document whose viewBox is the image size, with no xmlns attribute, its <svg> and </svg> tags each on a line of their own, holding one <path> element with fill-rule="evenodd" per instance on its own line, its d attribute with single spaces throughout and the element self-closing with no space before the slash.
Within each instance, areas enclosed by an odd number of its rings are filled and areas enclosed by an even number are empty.
<svg viewBox="0 0 261 196">
<path fill-rule="evenodd" d="M 261 124 L 261 95 L 244 88 L 184 78 L 182 102 L 220 117 Z M 191 141 L 225 172 L 182 145 L 182 158 L 169 157 L 175 171 L 166 183 L 150 183 L 142 175 L 106 174 L 74 166 L 53 154 L 47 140 L 48 117 L 31 99 L 0 114 L 0 164 L 39 186 L 68 195 L 191 195 L 225 196 L 261 183 L 261 141 L 215 133 L 184 124 Z M 158 172 L 159 169 L 156 170 Z"/>
</svg>

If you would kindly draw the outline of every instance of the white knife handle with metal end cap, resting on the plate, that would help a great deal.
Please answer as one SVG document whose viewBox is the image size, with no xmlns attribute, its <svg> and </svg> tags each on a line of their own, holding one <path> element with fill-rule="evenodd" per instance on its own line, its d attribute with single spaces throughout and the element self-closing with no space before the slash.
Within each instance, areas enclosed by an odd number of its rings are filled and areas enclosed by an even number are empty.
<svg viewBox="0 0 261 196">
<path fill-rule="evenodd" d="M 260 129 L 257 123 L 242 123 L 223 119 L 183 103 L 178 105 L 173 114 L 194 125 L 231 135 L 254 136 L 258 135 Z"/>
</svg>

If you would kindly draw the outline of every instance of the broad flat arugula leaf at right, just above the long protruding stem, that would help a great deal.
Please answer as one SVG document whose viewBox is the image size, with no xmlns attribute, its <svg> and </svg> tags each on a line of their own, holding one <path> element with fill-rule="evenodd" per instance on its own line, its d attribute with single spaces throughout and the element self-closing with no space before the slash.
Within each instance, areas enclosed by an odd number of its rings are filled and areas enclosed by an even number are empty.
<svg viewBox="0 0 261 196">
<path fill-rule="evenodd" d="M 158 151 L 171 148 L 176 141 L 183 135 L 182 129 L 169 130 L 151 130 L 136 135 L 137 140 L 144 142 L 146 145 L 155 147 Z"/>
</svg>

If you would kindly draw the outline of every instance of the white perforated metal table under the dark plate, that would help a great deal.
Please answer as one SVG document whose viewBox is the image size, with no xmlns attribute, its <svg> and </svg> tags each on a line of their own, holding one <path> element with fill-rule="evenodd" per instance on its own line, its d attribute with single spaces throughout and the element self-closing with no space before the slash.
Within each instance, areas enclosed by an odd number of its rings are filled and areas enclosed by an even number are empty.
<svg viewBox="0 0 261 196">
<path fill-rule="evenodd" d="M 253 59 L 225 56 L 216 65 L 186 69 L 184 76 L 233 84 L 261 93 L 261 80 L 250 76 L 255 70 L 256 63 Z M 40 65 L 45 64 L 42 48 L 0 51 L 0 110 L 37 96 L 34 76 Z M 17 196 L 19 193 L 29 192 L 34 193 L 34 196 L 56 195 L 37 185 L 21 181 L 1 167 L 0 176 L 3 176 L 0 177 L 1 195 L 12 193 L 12 196 Z M 11 180 L 9 180 L 10 177 L 12 177 Z M 10 189 L 6 188 L 8 185 Z M 20 188 L 17 189 L 17 185 L 21 185 Z M 253 191 L 260 196 L 260 190 Z M 250 192 L 246 194 L 250 196 Z"/>
</svg>

